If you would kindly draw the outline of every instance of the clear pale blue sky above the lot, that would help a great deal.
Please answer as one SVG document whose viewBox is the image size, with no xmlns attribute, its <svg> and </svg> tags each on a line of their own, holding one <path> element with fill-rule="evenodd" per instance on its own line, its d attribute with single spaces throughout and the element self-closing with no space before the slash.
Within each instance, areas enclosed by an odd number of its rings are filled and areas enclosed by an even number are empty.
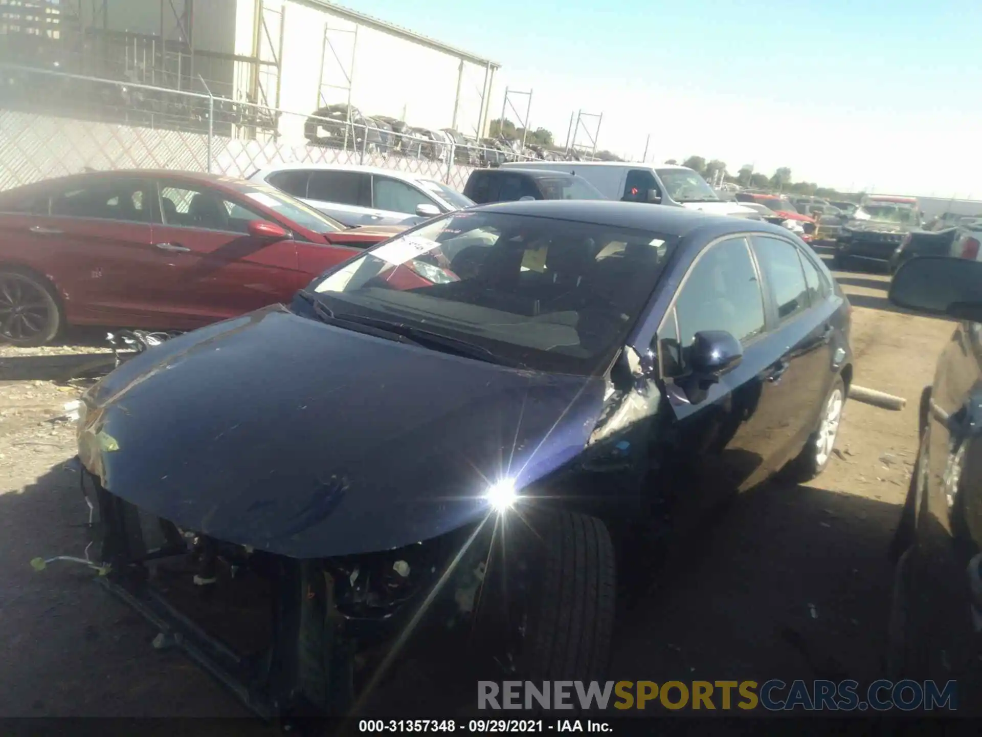
<svg viewBox="0 0 982 737">
<path fill-rule="evenodd" d="M 980 0 L 343 0 L 502 64 L 564 142 L 698 154 L 795 180 L 982 198 Z"/>
</svg>

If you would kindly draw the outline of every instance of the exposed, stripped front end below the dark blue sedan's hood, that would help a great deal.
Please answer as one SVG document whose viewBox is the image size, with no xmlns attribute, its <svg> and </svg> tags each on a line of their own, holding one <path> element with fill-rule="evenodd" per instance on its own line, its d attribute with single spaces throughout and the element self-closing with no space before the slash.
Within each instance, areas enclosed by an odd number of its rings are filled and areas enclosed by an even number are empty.
<svg viewBox="0 0 982 737">
<path fill-rule="evenodd" d="M 180 530 L 80 474 L 94 514 L 74 560 L 157 631 L 155 650 L 184 652 L 266 720 L 347 715 L 394 641 L 433 624 L 464 631 L 493 535 L 480 524 L 411 549 L 298 560 Z"/>
</svg>

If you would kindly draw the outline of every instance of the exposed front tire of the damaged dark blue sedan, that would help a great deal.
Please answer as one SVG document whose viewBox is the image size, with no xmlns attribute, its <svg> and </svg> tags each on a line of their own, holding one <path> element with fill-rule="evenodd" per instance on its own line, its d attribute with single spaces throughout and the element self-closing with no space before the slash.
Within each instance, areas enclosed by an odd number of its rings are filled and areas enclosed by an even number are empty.
<svg viewBox="0 0 982 737">
<path fill-rule="evenodd" d="M 509 651 L 504 659 L 514 667 L 510 678 L 603 681 L 617 586 L 610 534 L 600 520 L 575 512 L 522 516 L 527 526 L 518 520 L 509 525 L 504 565 L 495 545 L 492 566 L 498 570 L 485 580 L 478 632 L 491 635 L 500 665 L 502 651 Z M 516 638 L 519 622 L 523 635 Z"/>
</svg>

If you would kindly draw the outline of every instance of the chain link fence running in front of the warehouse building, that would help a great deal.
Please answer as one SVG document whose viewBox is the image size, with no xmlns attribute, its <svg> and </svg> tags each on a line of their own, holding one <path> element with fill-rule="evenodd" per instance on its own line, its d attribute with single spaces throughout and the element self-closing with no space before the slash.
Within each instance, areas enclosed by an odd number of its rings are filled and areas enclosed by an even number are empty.
<svg viewBox="0 0 982 737">
<path fill-rule="evenodd" d="M 477 142 L 388 119 L 368 125 L 353 111 L 335 105 L 302 114 L 207 92 L 0 65 L 0 190 L 85 170 L 247 177 L 280 163 L 377 166 L 463 190 L 475 167 L 541 158 L 517 142 Z"/>
</svg>

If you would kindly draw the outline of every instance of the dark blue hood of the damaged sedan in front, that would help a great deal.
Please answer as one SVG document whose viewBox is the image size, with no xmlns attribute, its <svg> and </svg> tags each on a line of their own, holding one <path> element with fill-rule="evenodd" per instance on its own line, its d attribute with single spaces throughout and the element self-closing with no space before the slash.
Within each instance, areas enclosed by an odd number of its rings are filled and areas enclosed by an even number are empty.
<svg viewBox="0 0 982 737">
<path fill-rule="evenodd" d="M 83 397 L 80 457 L 184 530 L 297 558 L 392 549 L 488 513 L 489 483 L 572 460 L 600 377 L 459 358 L 273 306 L 123 364 Z"/>
</svg>

